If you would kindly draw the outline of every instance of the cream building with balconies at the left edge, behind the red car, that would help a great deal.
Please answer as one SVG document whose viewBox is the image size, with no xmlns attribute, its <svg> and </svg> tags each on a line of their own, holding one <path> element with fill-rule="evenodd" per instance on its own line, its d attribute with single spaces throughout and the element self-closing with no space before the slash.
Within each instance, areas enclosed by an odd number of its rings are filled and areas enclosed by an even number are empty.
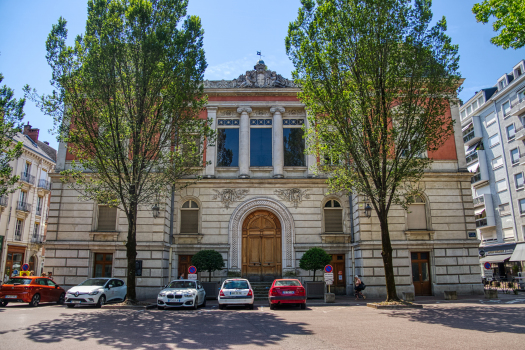
<svg viewBox="0 0 525 350">
<path fill-rule="evenodd" d="M 14 142 L 23 143 L 20 158 L 11 162 L 19 175 L 19 188 L 0 197 L 0 271 L 2 279 L 20 272 L 23 264 L 40 275 L 44 266 L 43 243 L 51 193 L 49 174 L 54 171 L 56 150 L 38 140 L 38 129 L 25 125 Z"/>
</svg>

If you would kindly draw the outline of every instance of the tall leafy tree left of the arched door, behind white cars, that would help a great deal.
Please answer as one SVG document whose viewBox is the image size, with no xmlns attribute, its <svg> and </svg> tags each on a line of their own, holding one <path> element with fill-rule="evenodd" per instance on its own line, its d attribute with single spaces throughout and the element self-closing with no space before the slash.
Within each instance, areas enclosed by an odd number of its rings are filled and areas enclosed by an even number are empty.
<svg viewBox="0 0 525 350">
<path fill-rule="evenodd" d="M 76 162 L 64 183 L 81 198 L 126 215 L 128 298 L 136 299 L 138 210 L 188 185 L 203 164 L 200 118 L 203 30 L 186 16 L 187 0 L 89 0 L 86 32 L 66 45 L 66 20 L 48 36 L 51 95 L 26 93 L 55 119 Z"/>
</svg>

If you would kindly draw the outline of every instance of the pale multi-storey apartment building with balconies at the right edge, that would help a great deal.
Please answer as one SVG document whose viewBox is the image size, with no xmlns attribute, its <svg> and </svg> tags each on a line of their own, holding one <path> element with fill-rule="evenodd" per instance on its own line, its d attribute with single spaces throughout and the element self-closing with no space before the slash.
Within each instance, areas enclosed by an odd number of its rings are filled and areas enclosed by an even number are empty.
<svg viewBox="0 0 525 350">
<path fill-rule="evenodd" d="M 460 116 L 480 262 L 512 278 L 525 260 L 525 61 L 478 91 Z"/>
</svg>

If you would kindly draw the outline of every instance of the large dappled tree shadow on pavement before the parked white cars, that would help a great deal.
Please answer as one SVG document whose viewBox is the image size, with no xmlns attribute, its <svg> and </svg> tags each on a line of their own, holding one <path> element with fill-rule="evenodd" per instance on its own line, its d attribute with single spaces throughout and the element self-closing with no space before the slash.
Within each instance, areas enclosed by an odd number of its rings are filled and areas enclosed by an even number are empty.
<svg viewBox="0 0 525 350">
<path fill-rule="evenodd" d="M 305 323 L 282 320 L 266 312 L 134 311 L 63 313 L 60 319 L 27 328 L 35 343 L 65 339 L 96 341 L 119 349 L 228 349 L 239 345 L 267 346 L 289 335 L 309 335 Z"/>
</svg>

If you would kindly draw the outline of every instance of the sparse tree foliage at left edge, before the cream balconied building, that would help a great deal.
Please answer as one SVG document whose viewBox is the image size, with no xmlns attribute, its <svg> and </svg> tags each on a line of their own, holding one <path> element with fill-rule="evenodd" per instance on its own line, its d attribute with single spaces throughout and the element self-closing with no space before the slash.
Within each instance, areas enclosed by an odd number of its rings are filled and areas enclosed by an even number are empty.
<svg viewBox="0 0 525 350">
<path fill-rule="evenodd" d="M 0 83 L 4 76 L 0 73 Z M 9 163 L 22 155 L 22 142 L 13 145 L 13 137 L 22 131 L 25 99 L 13 98 L 14 91 L 6 85 L 0 87 L 0 196 L 12 193 L 20 176 L 13 175 Z"/>
</svg>

